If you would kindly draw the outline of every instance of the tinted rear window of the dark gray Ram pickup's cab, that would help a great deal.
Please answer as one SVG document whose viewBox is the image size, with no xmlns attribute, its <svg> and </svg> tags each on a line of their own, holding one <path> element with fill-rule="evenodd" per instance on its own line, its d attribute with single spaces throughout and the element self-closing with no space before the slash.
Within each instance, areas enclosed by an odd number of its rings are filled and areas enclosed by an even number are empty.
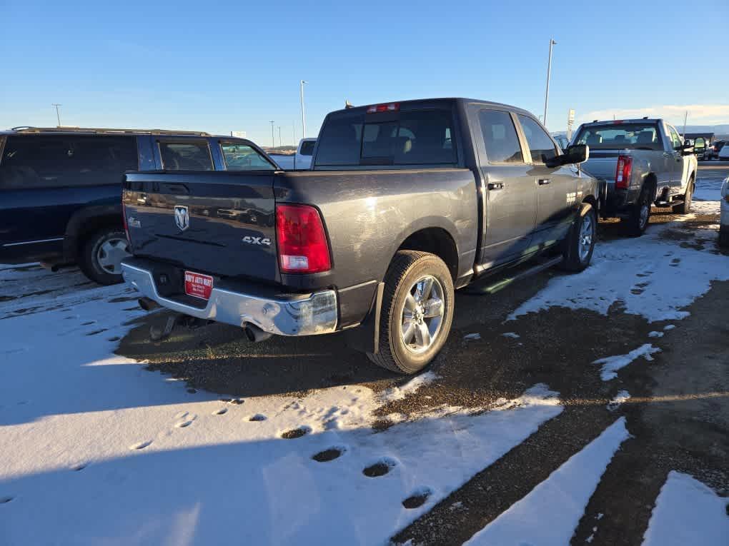
<svg viewBox="0 0 729 546">
<path fill-rule="evenodd" d="M 456 162 L 453 115 L 445 109 L 338 114 L 321 130 L 316 154 L 317 167 Z"/>
</svg>

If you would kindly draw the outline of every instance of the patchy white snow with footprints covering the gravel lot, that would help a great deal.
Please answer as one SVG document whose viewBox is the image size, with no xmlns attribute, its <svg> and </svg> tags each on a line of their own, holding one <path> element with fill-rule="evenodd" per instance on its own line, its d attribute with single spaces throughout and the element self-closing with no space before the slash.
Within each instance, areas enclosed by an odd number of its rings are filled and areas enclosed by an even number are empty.
<svg viewBox="0 0 729 546">
<path fill-rule="evenodd" d="M 617 303 L 680 328 L 682 307 L 729 279 L 728 258 L 663 229 L 602 242 L 587 271 L 555 276 L 512 316 L 555 305 L 607 313 Z M 715 237 L 713 226 L 702 231 Z M 145 314 L 135 300 L 124 285 L 99 288 L 75 270 L 0 266 L 1 544 L 385 544 L 563 411 L 558 393 L 536 384 L 488 411 L 444 405 L 373 430 L 375 411 L 437 382 L 432 371 L 382 393 L 348 385 L 221 400 L 114 355 Z M 594 373 L 612 379 L 655 352 L 648 339 L 635 347 L 604 355 Z M 609 407 L 629 397 L 619 392 Z M 630 423 L 615 418 L 471 542 L 569 542 L 628 438 Z M 669 476 L 647 545 L 684 537 L 677 526 L 701 533 L 702 544 L 727 543 L 717 515 L 725 500 L 690 480 Z"/>
</svg>

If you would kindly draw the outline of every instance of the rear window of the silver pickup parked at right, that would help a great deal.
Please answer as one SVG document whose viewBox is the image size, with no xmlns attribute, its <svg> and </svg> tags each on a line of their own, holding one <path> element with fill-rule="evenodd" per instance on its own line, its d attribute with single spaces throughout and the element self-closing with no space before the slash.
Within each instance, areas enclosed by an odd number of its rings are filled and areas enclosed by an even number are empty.
<svg viewBox="0 0 729 546">
<path fill-rule="evenodd" d="M 582 127 L 574 143 L 592 150 L 663 150 L 655 123 L 611 123 Z"/>
</svg>

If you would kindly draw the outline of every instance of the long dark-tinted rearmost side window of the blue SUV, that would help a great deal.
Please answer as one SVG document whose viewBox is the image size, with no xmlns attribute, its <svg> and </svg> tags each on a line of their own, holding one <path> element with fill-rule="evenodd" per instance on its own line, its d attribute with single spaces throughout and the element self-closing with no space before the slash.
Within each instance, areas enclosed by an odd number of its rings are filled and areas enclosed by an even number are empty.
<svg viewBox="0 0 729 546">
<path fill-rule="evenodd" d="M 11 135 L 0 161 L 0 187 L 121 183 L 126 170 L 138 168 L 133 136 Z"/>
</svg>

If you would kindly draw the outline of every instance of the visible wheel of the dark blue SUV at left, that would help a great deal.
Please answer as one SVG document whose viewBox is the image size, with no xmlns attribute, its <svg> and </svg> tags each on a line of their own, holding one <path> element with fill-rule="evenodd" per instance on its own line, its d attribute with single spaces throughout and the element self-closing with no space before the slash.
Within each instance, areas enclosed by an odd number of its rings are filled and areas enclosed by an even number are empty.
<svg viewBox="0 0 729 546">
<path fill-rule="evenodd" d="M 98 230 L 89 237 L 79 256 L 82 272 L 100 285 L 122 282 L 122 259 L 130 256 L 126 234 L 117 227 Z"/>
</svg>

